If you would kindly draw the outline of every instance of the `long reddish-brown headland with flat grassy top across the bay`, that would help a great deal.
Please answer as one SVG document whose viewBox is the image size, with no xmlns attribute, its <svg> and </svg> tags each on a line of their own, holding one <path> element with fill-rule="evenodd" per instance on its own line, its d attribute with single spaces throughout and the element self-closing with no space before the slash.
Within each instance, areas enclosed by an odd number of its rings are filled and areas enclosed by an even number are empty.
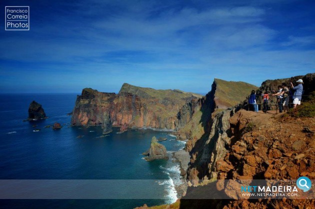
<svg viewBox="0 0 315 209">
<path fill-rule="evenodd" d="M 176 129 L 178 112 L 187 102 L 201 95 L 180 90 L 156 90 L 124 83 L 118 94 L 84 88 L 76 98 L 72 125 L 153 127 Z M 188 118 L 189 119 L 189 118 Z"/>
</svg>

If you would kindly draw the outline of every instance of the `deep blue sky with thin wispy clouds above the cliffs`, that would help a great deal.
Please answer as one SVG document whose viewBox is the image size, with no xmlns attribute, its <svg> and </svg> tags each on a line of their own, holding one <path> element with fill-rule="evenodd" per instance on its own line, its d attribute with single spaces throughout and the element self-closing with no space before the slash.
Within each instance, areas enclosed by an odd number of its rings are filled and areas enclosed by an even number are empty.
<svg viewBox="0 0 315 209">
<path fill-rule="evenodd" d="M 0 92 L 118 92 L 123 82 L 207 92 L 315 72 L 313 0 L 1 0 Z"/>
</svg>

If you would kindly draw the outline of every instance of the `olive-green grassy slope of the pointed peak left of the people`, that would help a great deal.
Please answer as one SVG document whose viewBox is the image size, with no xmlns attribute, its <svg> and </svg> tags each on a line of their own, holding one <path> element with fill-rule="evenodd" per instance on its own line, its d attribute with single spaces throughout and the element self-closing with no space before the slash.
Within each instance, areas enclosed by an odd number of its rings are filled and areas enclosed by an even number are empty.
<svg viewBox="0 0 315 209">
<path fill-rule="evenodd" d="M 214 82 L 216 83 L 215 98 L 219 107 L 234 106 L 245 100 L 251 90 L 258 89 L 255 85 L 241 81 L 225 81 L 215 78 Z"/>
</svg>

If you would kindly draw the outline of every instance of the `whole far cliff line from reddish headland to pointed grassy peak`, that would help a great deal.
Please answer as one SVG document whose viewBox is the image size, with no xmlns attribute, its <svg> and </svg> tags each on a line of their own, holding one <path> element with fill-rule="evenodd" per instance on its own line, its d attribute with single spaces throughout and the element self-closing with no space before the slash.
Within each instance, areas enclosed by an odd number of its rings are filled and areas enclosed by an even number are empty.
<svg viewBox="0 0 315 209">
<path fill-rule="evenodd" d="M 181 90 L 156 90 L 124 83 L 118 94 L 84 88 L 77 95 L 72 125 L 152 127 L 177 130 L 179 139 L 189 139 L 186 150 L 209 134 L 211 112 L 243 100 L 252 85 L 214 79 L 206 96 Z M 223 99 L 228 94 L 229 99 Z M 223 104 L 221 104 L 223 103 Z"/>
</svg>

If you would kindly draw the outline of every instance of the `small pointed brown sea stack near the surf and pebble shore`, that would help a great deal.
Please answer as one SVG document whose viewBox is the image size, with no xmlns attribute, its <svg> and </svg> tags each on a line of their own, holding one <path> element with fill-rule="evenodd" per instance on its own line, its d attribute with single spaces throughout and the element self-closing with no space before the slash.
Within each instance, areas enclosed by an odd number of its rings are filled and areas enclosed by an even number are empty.
<svg viewBox="0 0 315 209">
<path fill-rule="evenodd" d="M 146 152 L 146 155 L 146 161 L 154 159 L 168 159 L 165 146 L 158 143 L 155 136 L 152 137 L 151 145 L 149 150 Z"/>
</svg>

